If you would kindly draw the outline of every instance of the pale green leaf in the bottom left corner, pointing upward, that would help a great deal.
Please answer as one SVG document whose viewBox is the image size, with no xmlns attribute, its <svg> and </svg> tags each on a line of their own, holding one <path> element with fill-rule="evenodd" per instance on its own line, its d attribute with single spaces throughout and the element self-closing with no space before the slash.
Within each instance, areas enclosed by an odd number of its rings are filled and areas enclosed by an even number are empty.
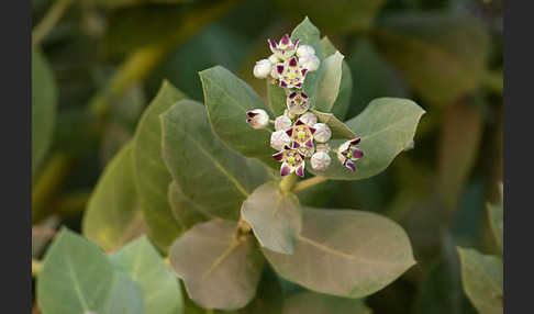
<svg viewBox="0 0 534 314">
<path fill-rule="evenodd" d="M 67 228 L 46 253 L 36 293 L 43 314 L 143 313 L 136 283 L 115 270 L 97 245 Z"/>
</svg>

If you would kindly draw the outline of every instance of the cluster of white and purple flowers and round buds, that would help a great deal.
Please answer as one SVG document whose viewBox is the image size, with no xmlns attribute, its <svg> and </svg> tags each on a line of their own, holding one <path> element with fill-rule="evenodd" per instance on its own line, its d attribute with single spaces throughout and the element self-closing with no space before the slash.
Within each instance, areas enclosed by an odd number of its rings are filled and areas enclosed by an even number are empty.
<svg viewBox="0 0 534 314">
<path fill-rule="evenodd" d="M 287 109 L 283 115 L 274 122 L 262 109 L 248 111 L 246 122 L 253 128 L 268 127 L 269 122 L 275 124 L 270 137 L 270 146 L 278 150 L 272 157 L 281 162 L 280 175 L 297 173 L 304 176 L 305 160 L 310 159 L 313 169 L 324 171 L 332 162 L 327 142 L 332 131 L 324 123 L 318 123 L 318 117 L 310 109 L 310 98 L 301 90 L 305 75 L 320 66 L 313 47 L 299 46 L 286 34 L 276 43 L 268 40 L 272 55 L 268 59 L 256 63 L 254 76 L 257 78 L 271 77 L 272 83 L 286 90 Z M 340 162 L 351 171 L 355 170 L 354 161 L 361 158 L 364 153 L 355 146 L 359 143 L 355 138 L 342 144 L 337 149 Z"/>
</svg>

